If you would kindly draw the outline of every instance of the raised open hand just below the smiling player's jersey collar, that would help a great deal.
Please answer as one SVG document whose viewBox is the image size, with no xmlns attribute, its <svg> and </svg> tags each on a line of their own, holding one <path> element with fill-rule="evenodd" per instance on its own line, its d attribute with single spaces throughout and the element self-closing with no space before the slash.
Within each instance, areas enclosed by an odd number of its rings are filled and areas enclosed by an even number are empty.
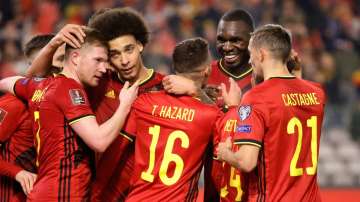
<svg viewBox="0 0 360 202">
<path fill-rule="evenodd" d="M 226 91 L 225 84 L 221 83 L 221 94 L 227 106 L 237 106 L 241 100 L 241 89 L 233 78 L 229 78 L 230 88 Z"/>
</svg>

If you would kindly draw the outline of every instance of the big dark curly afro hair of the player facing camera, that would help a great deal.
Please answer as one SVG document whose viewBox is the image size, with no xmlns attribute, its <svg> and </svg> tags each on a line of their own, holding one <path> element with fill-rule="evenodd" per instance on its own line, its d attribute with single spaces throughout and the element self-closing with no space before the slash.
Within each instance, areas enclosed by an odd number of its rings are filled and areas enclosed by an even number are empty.
<svg viewBox="0 0 360 202">
<path fill-rule="evenodd" d="M 149 41 L 143 17 L 131 8 L 99 10 L 91 16 L 88 26 L 99 30 L 108 41 L 124 35 L 133 35 L 143 46 Z"/>
</svg>

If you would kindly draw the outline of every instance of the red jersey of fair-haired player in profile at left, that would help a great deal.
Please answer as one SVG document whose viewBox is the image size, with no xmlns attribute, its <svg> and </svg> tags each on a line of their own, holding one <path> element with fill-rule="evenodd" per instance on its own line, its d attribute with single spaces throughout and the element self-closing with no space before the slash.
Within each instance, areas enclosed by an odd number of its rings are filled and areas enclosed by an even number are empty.
<svg viewBox="0 0 360 202">
<path fill-rule="evenodd" d="M 80 118 L 93 116 L 83 87 L 58 75 L 20 79 L 14 90 L 28 100 L 34 117 L 38 177 L 28 201 L 87 200 L 90 149 L 71 129 Z"/>
</svg>

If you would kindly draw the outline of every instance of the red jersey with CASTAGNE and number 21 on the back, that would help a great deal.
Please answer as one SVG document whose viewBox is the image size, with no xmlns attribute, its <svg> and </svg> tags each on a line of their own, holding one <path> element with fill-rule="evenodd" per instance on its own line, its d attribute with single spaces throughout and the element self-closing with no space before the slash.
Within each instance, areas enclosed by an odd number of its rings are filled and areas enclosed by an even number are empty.
<svg viewBox="0 0 360 202">
<path fill-rule="evenodd" d="M 258 201 L 321 201 L 316 170 L 324 103 L 318 84 L 295 77 L 271 78 L 244 95 L 234 144 L 261 148 Z"/>
</svg>

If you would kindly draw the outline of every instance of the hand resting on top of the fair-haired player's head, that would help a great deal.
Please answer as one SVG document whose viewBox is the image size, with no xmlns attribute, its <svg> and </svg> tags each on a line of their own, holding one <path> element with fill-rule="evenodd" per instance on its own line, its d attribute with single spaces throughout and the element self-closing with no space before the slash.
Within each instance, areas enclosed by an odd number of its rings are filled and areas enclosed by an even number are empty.
<svg viewBox="0 0 360 202">
<path fill-rule="evenodd" d="M 70 45 L 73 48 L 80 48 L 81 44 L 84 43 L 85 26 L 67 24 L 65 25 L 54 38 L 49 42 L 50 45 L 54 48 L 58 48 L 63 43 Z"/>
</svg>

